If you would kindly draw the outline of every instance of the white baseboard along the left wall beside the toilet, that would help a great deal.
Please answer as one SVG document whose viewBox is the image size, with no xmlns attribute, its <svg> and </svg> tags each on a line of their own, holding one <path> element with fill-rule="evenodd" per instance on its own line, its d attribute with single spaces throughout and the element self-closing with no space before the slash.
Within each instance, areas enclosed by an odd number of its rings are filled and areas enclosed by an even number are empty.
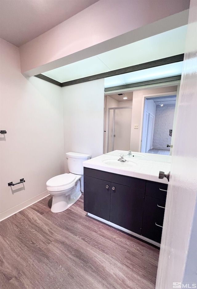
<svg viewBox="0 0 197 289">
<path fill-rule="evenodd" d="M 31 198 L 30 200 L 23 202 L 22 204 L 19 204 L 13 208 L 10 208 L 9 210 L 7 210 L 5 212 L 0 213 L 0 221 L 3 221 L 4 219 L 20 212 L 21 210 L 29 207 L 30 205 L 44 199 L 46 196 L 49 196 L 48 191 L 43 192 L 42 194 L 35 196 L 35 197 Z"/>
</svg>

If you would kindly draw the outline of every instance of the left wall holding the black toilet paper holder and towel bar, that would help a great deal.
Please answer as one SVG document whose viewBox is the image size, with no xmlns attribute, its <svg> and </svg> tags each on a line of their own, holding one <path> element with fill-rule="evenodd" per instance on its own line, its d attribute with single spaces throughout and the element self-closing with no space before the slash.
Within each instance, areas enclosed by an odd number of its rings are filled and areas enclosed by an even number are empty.
<svg viewBox="0 0 197 289">
<path fill-rule="evenodd" d="M 20 72 L 18 48 L 1 45 L 0 219 L 46 196 L 64 172 L 61 88 Z M 24 178 L 25 183 L 9 187 Z M 45 193 L 44 193 L 45 192 Z"/>
</svg>

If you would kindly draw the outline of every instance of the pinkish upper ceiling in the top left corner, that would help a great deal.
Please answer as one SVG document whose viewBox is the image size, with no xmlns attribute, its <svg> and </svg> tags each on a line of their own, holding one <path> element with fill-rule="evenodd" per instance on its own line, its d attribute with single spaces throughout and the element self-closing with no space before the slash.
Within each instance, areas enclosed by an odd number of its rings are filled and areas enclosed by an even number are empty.
<svg viewBox="0 0 197 289">
<path fill-rule="evenodd" d="M 97 1 L 0 0 L 0 37 L 19 47 Z"/>
</svg>

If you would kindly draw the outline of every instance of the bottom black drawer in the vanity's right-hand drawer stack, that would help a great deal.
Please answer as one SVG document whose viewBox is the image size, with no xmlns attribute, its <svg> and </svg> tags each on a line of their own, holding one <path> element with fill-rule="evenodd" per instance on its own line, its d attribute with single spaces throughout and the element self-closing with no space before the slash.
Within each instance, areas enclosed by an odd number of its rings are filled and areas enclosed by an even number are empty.
<svg viewBox="0 0 197 289">
<path fill-rule="evenodd" d="M 162 225 L 159 224 L 157 217 L 143 214 L 142 236 L 161 243 Z"/>
</svg>

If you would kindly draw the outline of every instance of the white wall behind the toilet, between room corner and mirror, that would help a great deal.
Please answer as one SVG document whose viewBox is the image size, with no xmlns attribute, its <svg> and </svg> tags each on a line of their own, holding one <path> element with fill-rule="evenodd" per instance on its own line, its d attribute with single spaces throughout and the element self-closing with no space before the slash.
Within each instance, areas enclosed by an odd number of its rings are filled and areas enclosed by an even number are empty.
<svg viewBox="0 0 197 289">
<path fill-rule="evenodd" d="M 62 97 L 65 153 L 102 155 L 104 79 L 62 87 Z"/>
</svg>

